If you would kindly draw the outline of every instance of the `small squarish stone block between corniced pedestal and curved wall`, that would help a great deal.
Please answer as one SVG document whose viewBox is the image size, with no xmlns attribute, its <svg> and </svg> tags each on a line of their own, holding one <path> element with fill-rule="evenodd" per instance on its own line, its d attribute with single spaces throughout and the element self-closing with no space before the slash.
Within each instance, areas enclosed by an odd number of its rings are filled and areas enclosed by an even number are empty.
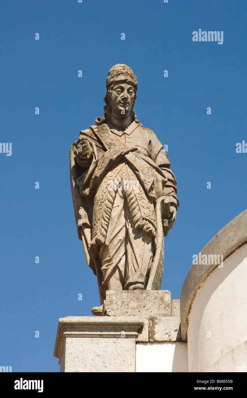
<svg viewBox="0 0 247 398">
<path fill-rule="evenodd" d="M 180 318 L 178 316 L 149 318 L 149 341 L 181 341 Z"/>
</svg>

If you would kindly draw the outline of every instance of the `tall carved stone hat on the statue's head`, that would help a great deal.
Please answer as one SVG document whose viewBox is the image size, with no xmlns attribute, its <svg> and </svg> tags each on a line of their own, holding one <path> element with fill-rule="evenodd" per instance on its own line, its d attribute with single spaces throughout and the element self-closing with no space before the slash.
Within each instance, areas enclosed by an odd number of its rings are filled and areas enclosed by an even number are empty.
<svg viewBox="0 0 247 398">
<path fill-rule="evenodd" d="M 137 81 L 136 76 L 134 75 L 132 69 L 126 64 L 117 64 L 114 65 L 108 73 L 108 77 L 106 79 L 106 88 L 107 90 L 110 86 L 117 82 L 127 82 L 133 84 L 135 90 L 137 90 Z"/>
</svg>

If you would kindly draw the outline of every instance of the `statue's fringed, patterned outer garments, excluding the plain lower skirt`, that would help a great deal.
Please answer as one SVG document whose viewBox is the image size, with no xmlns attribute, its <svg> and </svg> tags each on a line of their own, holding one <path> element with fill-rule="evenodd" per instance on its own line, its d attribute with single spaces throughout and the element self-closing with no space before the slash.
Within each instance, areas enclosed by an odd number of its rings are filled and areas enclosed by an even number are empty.
<svg viewBox="0 0 247 398">
<path fill-rule="evenodd" d="M 91 146 L 90 158 L 78 156 L 76 145 L 83 139 Z M 78 236 L 84 244 L 87 264 L 97 275 L 102 302 L 107 289 L 105 275 L 109 275 L 115 265 L 108 265 L 108 273 L 103 276 L 99 250 L 107 239 L 114 203 L 124 200 L 132 229 L 142 230 L 145 236 L 152 237 L 154 255 L 156 201 L 166 195 L 177 209 L 175 176 L 154 132 L 135 120 L 125 131 L 118 131 L 110 123 L 81 131 L 79 140 L 70 148 L 70 180 Z M 126 189 L 125 184 L 122 186 L 124 199 L 119 199 L 119 185 L 112 183 L 116 180 L 134 181 L 138 189 L 128 189 L 128 184 Z M 119 203 L 121 207 L 123 204 Z"/>
</svg>

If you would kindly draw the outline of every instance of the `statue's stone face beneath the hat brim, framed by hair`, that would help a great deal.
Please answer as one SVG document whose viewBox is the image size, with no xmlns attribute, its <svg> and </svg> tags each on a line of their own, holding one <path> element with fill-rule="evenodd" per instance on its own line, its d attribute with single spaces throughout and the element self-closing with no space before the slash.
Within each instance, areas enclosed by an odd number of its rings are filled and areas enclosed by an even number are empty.
<svg viewBox="0 0 247 398">
<path fill-rule="evenodd" d="M 132 84 L 119 82 L 113 86 L 111 94 L 111 114 L 114 117 L 127 117 L 134 101 L 134 87 Z"/>
</svg>

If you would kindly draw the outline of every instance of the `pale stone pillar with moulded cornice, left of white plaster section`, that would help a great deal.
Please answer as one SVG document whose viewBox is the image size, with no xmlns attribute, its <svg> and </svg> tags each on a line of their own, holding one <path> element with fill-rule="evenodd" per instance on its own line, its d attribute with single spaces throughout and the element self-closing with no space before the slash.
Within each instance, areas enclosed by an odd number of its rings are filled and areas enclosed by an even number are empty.
<svg viewBox="0 0 247 398">
<path fill-rule="evenodd" d="M 137 317 L 60 318 L 54 349 L 62 372 L 134 372 Z"/>
</svg>

